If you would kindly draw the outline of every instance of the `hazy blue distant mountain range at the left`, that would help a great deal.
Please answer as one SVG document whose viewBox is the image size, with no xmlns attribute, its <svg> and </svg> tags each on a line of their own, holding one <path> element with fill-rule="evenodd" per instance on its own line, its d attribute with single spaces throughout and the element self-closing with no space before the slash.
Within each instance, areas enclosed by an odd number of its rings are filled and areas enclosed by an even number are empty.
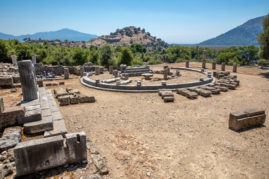
<svg viewBox="0 0 269 179">
<path fill-rule="evenodd" d="M 37 32 L 33 35 L 27 34 L 27 35 L 20 35 L 20 36 L 14 36 L 14 35 L 8 35 L 3 34 L 0 32 L 0 39 L 8 40 L 8 39 L 19 39 L 21 42 L 23 42 L 22 39 L 30 37 L 31 39 L 59 39 L 61 41 L 65 41 L 66 39 L 69 41 L 89 41 L 90 39 L 100 37 L 98 35 L 92 35 L 92 34 L 85 34 L 79 31 L 70 30 L 68 28 L 64 28 L 62 30 L 58 31 L 50 31 L 50 32 Z"/>
</svg>

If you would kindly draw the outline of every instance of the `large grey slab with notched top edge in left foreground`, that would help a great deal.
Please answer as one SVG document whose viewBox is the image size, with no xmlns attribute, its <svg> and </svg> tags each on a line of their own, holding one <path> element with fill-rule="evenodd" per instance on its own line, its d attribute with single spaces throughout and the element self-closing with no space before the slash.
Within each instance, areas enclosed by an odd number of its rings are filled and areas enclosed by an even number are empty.
<svg viewBox="0 0 269 179">
<path fill-rule="evenodd" d="M 87 159 L 84 132 L 21 142 L 14 148 L 17 176 Z M 42 152 L 40 152 L 42 151 Z"/>
</svg>

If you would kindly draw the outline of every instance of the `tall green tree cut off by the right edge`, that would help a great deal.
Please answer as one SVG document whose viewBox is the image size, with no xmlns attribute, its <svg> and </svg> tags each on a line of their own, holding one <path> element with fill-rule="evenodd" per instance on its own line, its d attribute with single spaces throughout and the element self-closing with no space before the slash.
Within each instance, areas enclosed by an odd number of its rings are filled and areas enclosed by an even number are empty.
<svg viewBox="0 0 269 179">
<path fill-rule="evenodd" d="M 262 18 L 261 24 L 263 26 L 263 32 L 257 34 L 256 40 L 261 48 L 260 57 L 269 60 L 269 13 L 267 17 Z"/>
</svg>

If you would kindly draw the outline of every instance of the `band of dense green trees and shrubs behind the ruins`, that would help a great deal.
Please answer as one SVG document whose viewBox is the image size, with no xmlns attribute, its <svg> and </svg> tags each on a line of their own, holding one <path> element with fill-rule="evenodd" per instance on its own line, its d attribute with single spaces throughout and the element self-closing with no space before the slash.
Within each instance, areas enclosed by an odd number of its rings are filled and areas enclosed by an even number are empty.
<svg viewBox="0 0 269 179">
<path fill-rule="evenodd" d="M 207 63 L 216 61 L 217 64 L 225 62 L 227 65 L 232 65 L 233 63 L 248 64 L 249 61 L 260 59 L 259 48 L 254 45 L 233 46 L 228 49 L 220 49 L 218 52 L 210 48 L 199 48 L 199 46 L 189 48 L 187 46 L 170 45 L 167 50 L 162 49 L 161 52 L 157 50 L 148 52 L 146 47 L 139 43 L 133 43 L 131 46 L 125 47 L 121 45 L 113 47 L 106 43 L 100 48 L 94 45 L 89 48 L 86 45 L 65 48 L 54 46 L 54 44 L 48 43 L 47 40 L 44 40 L 42 45 L 41 43 L 21 43 L 17 39 L 0 40 L 1 62 L 11 63 L 10 55 L 16 55 L 17 60 L 21 61 L 29 60 L 31 59 L 31 54 L 36 54 L 37 63 L 41 64 L 76 66 L 90 61 L 94 65 L 102 65 L 105 68 L 110 65 L 118 68 L 120 64 L 128 66 L 143 65 L 143 62 L 148 62 L 148 65 L 165 62 L 182 63 L 186 60 L 202 62 L 203 50 L 207 50 Z"/>
</svg>

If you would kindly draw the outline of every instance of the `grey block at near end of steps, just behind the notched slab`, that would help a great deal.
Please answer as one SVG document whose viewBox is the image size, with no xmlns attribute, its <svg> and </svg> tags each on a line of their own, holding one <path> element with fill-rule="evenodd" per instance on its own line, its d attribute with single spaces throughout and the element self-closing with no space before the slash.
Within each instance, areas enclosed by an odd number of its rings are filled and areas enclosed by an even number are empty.
<svg viewBox="0 0 269 179">
<path fill-rule="evenodd" d="M 24 123 L 23 128 L 26 131 L 26 133 L 29 134 L 43 132 L 46 130 L 52 130 L 53 129 L 52 116 L 45 116 L 42 117 L 42 120 Z"/>
</svg>

